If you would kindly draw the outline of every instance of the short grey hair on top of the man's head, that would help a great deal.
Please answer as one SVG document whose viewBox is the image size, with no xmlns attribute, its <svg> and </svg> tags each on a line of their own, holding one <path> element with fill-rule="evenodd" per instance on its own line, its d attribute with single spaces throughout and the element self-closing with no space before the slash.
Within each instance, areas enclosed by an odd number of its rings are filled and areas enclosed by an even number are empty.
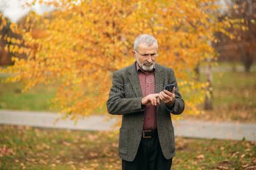
<svg viewBox="0 0 256 170">
<path fill-rule="evenodd" d="M 158 46 L 158 41 L 155 39 L 155 37 L 148 34 L 142 34 L 136 37 L 133 44 L 133 49 L 137 50 L 139 44 L 141 43 L 146 44 L 147 46 L 151 46 L 153 44 L 156 44 L 156 46 Z"/>
</svg>

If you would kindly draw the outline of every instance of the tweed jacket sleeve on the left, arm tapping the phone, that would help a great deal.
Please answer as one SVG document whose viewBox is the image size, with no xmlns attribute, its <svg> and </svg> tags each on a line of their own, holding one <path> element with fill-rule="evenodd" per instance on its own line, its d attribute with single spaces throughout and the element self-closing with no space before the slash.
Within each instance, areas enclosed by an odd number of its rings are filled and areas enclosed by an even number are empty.
<svg viewBox="0 0 256 170">
<path fill-rule="evenodd" d="M 125 98 L 125 83 L 118 71 L 113 73 L 112 81 L 112 88 L 107 101 L 110 114 L 130 114 L 144 111 L 146 107 L 141 104 L 143 97 Z"/>
</svg>

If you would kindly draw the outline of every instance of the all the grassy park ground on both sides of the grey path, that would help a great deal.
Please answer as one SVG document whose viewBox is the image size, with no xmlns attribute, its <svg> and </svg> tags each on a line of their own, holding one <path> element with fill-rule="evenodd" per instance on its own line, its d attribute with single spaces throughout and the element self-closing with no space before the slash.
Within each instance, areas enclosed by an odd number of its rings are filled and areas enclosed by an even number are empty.
<svg viewBox="0 0 256 170">
<path fill-rule="evenodd" d="M 255 69 L 216 71 L 213 78 L 213 111 L 184 118 L 255 123 Z M 48 100 L 56 86 L 21 90 L 20 83 L 1 83 L 0 109 L 54 111 Z M 255 142 L 176 137 L 175 144 L 172 169 L 256 168 Z M 117 153 L 118 133 L 0 126 L 0 169 L 120 169 Z"/>
</svg>

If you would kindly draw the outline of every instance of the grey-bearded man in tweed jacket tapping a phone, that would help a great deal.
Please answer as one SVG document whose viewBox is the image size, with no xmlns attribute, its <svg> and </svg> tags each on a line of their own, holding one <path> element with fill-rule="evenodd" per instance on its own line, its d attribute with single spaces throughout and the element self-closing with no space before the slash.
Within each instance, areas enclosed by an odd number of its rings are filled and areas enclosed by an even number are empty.
<svg viewBox="0 0 256 170">
<path fill-rule="evenodd" d="M 113 73 L 107 101 L 110 114 L 122 114 L 122 169 L 171 169 L 175 139 L 170 113 L 184 111 L 174 70 L 155 63 L 158 42 L 151 35 L 135 39 L 133 55 L 132 65 Z M 174 84 L 171 92 L 167 84 Z"/>
</svg>

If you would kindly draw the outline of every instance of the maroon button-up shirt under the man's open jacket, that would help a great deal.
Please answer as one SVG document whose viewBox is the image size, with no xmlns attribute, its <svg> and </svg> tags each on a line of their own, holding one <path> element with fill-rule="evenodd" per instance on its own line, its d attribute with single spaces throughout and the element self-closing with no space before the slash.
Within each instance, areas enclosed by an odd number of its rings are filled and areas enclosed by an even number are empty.
<svg viewBox="0 0 256 170">
<path fill-rule="evenodd" d="M 152 71 L 144 71 L 137 62 L 136 66 L 143 97 L 155 94 L 155 67 Z M 148 129 L 156 129 L 156 112 L 154 105 L 146 106 L 144 110 L 143 130 Z"/>
</svg>

